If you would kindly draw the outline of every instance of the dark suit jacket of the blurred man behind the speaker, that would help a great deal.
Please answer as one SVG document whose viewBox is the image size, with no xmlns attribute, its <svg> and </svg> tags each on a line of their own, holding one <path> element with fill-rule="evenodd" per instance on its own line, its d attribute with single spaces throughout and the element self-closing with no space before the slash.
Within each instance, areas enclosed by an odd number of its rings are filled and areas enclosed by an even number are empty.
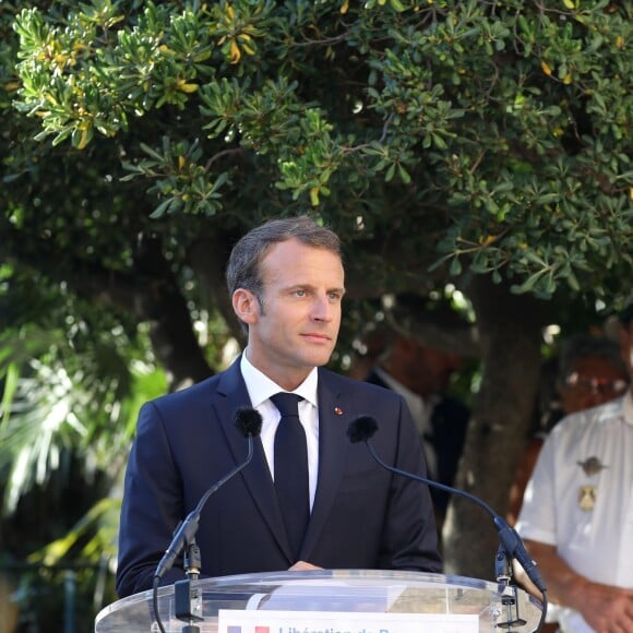
<svg viewBox="0 0 633 633">
<path fill-rule="evenodd" d="M 372 384 L 391 389 L 375 371 L 370 371 L 366 380 Z M 435 480 L 440 483 L 453 486 L 455 481 L 469 419 L 470 410 L 468 407 L 458 399 L 444 394 L 440 395 L 439 402 L 433 406 L 430 418 L 431 430 L 421 439 L 434 452 L 434 462 L 438 469 Z M 451 500 L 451 493 L 438 488 L 431 488 L 431 498 L 438 510 L 438 516 L 444 516 Z"/>
</svg>

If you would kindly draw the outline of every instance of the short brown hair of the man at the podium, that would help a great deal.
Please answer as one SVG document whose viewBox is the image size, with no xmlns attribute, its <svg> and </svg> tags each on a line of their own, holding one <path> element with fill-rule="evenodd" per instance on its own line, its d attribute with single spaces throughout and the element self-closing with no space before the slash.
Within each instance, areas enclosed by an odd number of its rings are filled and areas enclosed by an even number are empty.
<svg viewBox="0 0 633 633">
<path fill-rule="evenodd" d="M 231 250 L 226 270 L 229 297 L 238 288 L 250 290 L 263 307 L 261 262 L 271 247 L 296 238 L 302 243 L 332 251 L 339 258 L 341 239 L 307 215 L 271 219 L 247 232 Z M 246 329 L 246 325 L 242 324 Z"/>
</svg>

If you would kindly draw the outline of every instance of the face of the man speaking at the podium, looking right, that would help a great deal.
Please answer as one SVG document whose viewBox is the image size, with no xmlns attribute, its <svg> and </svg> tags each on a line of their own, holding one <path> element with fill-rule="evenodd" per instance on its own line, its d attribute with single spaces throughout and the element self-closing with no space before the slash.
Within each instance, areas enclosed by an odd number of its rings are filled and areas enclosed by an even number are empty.
<svg viewBox="0 0 633 633">
<path fill-rule="evenodd" d="M 251 295 L 251 312 L 241 316 L 249 324 L 248 358 L 292 390 L 332 356 L 345 292 L 343 264 L 336 253 L 292 238 L 271 248 L 261 272 L 262 304 Z"/>
</svg>

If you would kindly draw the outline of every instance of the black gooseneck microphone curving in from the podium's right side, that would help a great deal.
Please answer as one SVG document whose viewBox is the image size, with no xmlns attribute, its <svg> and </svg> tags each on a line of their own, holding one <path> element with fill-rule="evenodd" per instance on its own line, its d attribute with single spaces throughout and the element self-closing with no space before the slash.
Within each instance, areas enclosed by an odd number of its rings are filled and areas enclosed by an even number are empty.
<svg viewBox="0 0 633 633">
<path fill-rule="evenodd" d="M 465 497 L 470 501 L 477 503 L 477 505 L 481 506 L 488 514 L 492 517 L 492 522 L 497 532 L 499 533 L 499 539 L 501 540 L 500 548 L 503 548 L 505 556 L 511 559 L 515 558 L 523 569 L 525 573 L 529 577 L 529 580 L 536 585 L 536 587 L 546 596 L 547 586 L 545 581 L 540 574 L 540 571 L 536 566 L 536 562 L 532 559 L 532 557 L 527 553 L 527 549 L 525 545 L 518 536 L 518 533 L 510 527 L 507 522 L 499 515 L 488 503 L 483 500 L 466 492 L 465 490 L 459 490 L 458 488 L 452 488 L 451 486 L 445 486 L 444 483 L 440 483 L 439 481 L 433 481 L 432 479 L 427 479 L 426 477 L 421 477 L 419 475 L 415 475 L 413 473 L 407 473 L 406 470 L 401 470 L 394 466 L 389 466 L 385 464 L 375 453 L 374 447 L 372 446 L 371 442 L 369 441 L 375 431 L 378 430 L 378 422 L 374 418 L 370 416 L 359 416 L 355 420 L 349 423 L 347 429 L 347 437 L 353 444 L 358 442 L 365 442 L 369 453 L 373 457 L 373 459 L 383 468 L 386 468 L 391 473 L 395 473 L 396 475 L 402 475 L 403 477 L 407 477 L 409 479 L 414 479 L 415 481 L 419 481 L 420 483 L 427 483 L 428 486 L 432 486 L 433 488 L 439 488 L 440 490 L 444 490 L 445 492 L 451 492 L 454 494 L 458 494 L 459 497 Z"/>
</svg>

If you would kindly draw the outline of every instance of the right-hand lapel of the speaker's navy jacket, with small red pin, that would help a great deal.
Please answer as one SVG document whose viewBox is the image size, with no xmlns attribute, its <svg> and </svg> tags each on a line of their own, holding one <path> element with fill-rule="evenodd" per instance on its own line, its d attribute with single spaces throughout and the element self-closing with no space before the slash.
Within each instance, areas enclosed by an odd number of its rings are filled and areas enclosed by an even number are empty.
<svg viewBox="0 0 633 633">
<path fill-rule="evenodd" d="M 319 481 L 314 505 L 301 548 L 301 559 L 310 560 L 310 552 L 322 535 L 325 522 L 344 473 L 349 450 L 347 427 L 350 417 L 333 381 L 319 373 Z"/>
</svg>

